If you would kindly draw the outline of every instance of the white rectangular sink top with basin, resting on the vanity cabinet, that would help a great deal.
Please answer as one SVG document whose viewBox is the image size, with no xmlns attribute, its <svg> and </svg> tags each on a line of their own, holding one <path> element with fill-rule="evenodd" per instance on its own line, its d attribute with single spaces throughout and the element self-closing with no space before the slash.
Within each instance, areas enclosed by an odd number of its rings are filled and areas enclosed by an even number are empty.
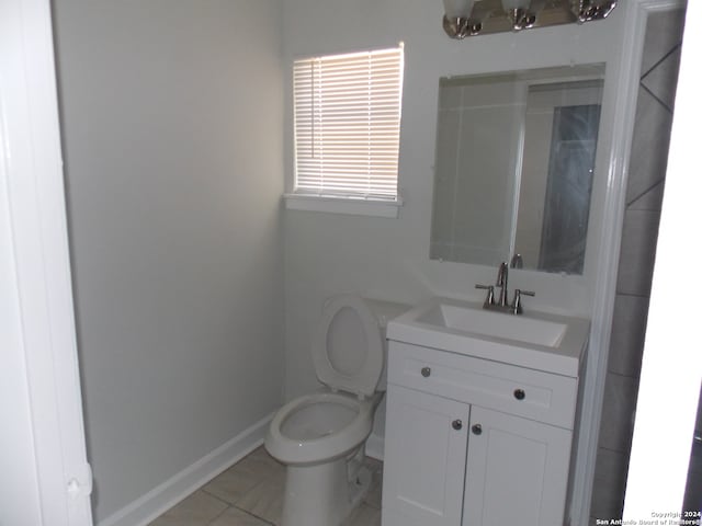
<svg viewBox="0 0 702 526">
<path fill-rule="evenodd" d="M 510 315 L 482 304 L 433 298 L 395 318 L 389 340 L 577 377 L 590 323 L 529 310 Z"/>
</svg>

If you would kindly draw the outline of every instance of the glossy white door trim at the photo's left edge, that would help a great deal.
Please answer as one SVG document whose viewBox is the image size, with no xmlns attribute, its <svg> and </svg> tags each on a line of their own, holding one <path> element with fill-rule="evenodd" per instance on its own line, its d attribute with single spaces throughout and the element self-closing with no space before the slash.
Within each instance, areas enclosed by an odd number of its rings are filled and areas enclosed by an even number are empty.
<svg viewBox="0 0 702 526">
<path fill-rule="evenodd" d="M 0 0 L 0 126 L 42 525 L 89 526 L 49 0 Z"/>
</svg>

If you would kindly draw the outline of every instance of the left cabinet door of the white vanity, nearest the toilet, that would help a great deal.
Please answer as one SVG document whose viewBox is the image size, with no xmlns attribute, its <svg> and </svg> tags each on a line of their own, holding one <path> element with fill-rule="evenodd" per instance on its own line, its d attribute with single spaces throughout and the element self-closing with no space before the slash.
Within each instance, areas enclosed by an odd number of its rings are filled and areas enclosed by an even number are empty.
<svg viewBox="0 0 702 526">
<path fill-rule="evenodd" d="M 469 407 L 388 386 L 383 526 L 460 526 Z"/>
</svg>

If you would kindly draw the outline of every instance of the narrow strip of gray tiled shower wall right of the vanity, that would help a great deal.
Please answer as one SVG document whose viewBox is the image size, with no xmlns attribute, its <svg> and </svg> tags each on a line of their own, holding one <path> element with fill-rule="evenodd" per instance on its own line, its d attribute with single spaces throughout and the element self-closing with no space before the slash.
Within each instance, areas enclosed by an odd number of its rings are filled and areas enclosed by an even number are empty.
<svg viewBox="0 0 702 526">
<path fill-rule="evenodd" d="M 591 524 L 622 515 L 683 21 L 683 11 L 666 11 L 646 26 Z"/>
</svg>

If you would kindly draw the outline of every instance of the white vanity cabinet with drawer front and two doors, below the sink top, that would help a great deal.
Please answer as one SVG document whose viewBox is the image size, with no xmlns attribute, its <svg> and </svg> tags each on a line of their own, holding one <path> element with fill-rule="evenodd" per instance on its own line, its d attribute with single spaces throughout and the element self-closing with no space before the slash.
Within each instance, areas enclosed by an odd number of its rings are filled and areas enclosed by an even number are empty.
<svg viewBox="0 0 702 526">
<path fill-rule="evenodd" d="M 383 526 L 561 526 L 576 377 L 389 342 Z"/>
</svg>

